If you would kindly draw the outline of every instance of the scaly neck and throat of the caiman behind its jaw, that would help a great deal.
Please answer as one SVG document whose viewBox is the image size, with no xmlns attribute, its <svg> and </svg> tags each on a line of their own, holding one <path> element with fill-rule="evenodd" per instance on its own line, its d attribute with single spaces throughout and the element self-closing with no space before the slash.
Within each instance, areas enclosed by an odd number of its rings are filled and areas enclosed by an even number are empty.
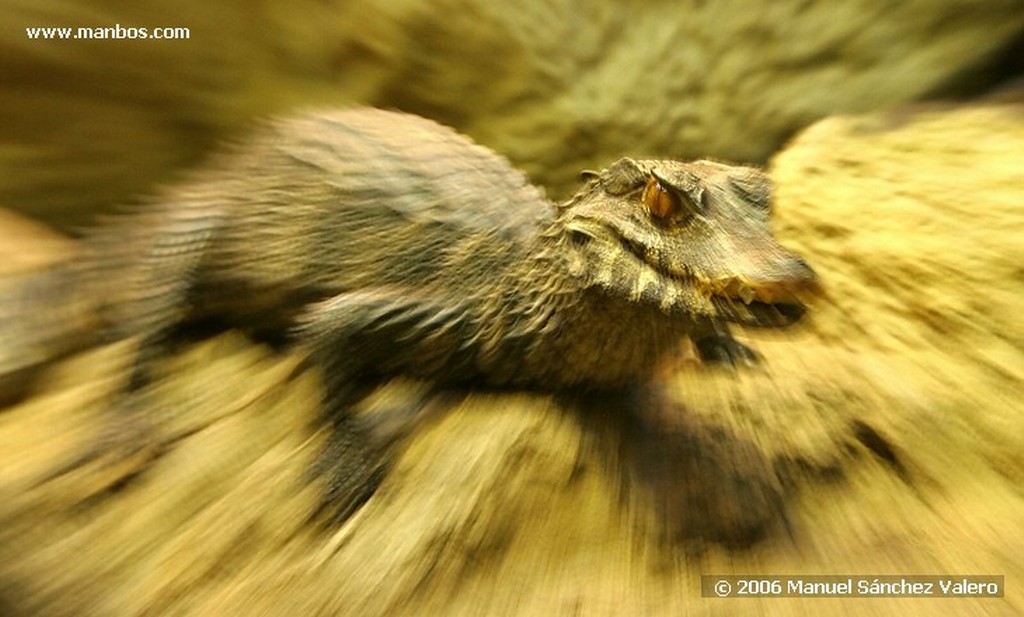
<svg viewBox="0 0 1024 617">
<path fill-rule="evenodd" d="M 650 379 L 692 323 L 590 284 L 556 221 L 511 264 L 483 319 L 483 370 L 497 383 L 617 388 Z"/>
</svg>

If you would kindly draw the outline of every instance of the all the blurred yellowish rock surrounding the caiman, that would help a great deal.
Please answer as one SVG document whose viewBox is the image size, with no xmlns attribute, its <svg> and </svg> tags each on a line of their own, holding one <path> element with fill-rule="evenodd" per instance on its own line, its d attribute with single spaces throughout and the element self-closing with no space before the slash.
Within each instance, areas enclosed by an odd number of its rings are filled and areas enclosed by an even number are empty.
<svg viewBox="0 0 1024 617">
<path fill-rule="evenodd" d="M 454 126 L 556 200 L 623 156 L 768 166 L 776 233 L 828 293 L 795 332 L 745 334 L 762 369 L 667 369 L 664 396 L 631 403 L 642 420 L 434 401 L 380 493 L 328 529 L 304 480 L 315 379 L 241 336 L 167 360 L 160 452 L 55 474 L 128 354 L 90 349 L 0 409 L 0 614 L 811 608 L 702 599 L 706 573 L 1006 575 L 1005 598 L 926 606 L 1024 614 L 1018 0 L 0 7 L 0 272 L 69 259 L 61 233 L 261 118 L 366 104 Z"/>
</svg>

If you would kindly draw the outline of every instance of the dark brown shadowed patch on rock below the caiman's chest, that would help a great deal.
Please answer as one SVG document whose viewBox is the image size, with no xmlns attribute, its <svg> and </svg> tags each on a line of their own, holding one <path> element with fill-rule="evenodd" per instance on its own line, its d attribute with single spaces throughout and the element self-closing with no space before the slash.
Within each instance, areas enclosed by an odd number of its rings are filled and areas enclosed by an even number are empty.
<svg viewBox="0 0 1024 617">
<path fill-rule="evenodd" d="M 670 540 L 743 548 L 787 528 L 781 485 L 756 444 L 689 417 L 656 389 L 565 404 L 620 461 L 627 497 L 656 509 Z"/>
</svg>

